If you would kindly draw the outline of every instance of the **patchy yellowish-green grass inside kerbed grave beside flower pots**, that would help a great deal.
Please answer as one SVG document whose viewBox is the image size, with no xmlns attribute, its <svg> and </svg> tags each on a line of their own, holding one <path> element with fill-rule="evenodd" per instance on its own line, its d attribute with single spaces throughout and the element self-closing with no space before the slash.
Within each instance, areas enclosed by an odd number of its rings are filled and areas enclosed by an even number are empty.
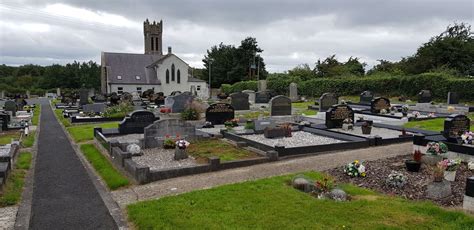
<svg viewBox="0 0 474 230">
<path fill-rule="evenodd" d="M 254 152 L 214 139 L 193 142 L 187 151 L 189 155 L 203 163 L 207 163 L 208 158 L 212 156 L 220 157 L 222 162 L 258 157 Z"/>
</svg>

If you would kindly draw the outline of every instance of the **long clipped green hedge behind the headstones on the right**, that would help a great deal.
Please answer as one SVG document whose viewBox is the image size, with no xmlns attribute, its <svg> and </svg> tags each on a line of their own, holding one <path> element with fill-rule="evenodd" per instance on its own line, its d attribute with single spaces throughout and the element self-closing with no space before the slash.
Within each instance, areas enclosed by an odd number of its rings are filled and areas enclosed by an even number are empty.
<svg viewBox="0 0 474 230">
<path fill-rule="evenodd" d="M 463 100 L 474 100 L 474 79 L 457 78 L 442 73 L 424 73 L 414 76 L 366 76 L 344 78 L 314 78 L 301 81 L 299 77 L 277 74 L 267 78 L 267 88 L 278 94 L 288 95 L 291 82 L 298 84 L 298 93 L 304 96 L 319 97 L 325 92 L 338 95 L 358 95 L 370 90 L 385 96 L 416 96 L 422 89 L 431 90 L 434 98 L 446 99 L 449 91 L 458 92 Z M 248 87 L 252 85 L 252 87 Z M 238 82 L 222 85 L 225 93 L 257 89 L 256 81 Z"/>
</svg>

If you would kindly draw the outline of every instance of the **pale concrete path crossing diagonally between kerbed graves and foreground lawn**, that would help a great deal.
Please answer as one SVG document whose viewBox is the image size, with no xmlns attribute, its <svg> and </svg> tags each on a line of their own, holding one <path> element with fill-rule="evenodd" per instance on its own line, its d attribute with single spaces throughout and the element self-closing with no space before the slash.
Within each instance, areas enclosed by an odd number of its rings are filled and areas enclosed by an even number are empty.
<svg viewBox="0 0 474 230">
<path fill-rule="evenodd" d="M 198 189 L 207 189 L 224 184 L 311 170 L 323 171 L 343 166 L 353 160 L 369 161 L 405 155 L 412 152 L 412 146 L 411 143 L 404 143 L 344 152 L 334 152 L 244 168 L 178 177 L 114 191 L 112 192 L 112 196 L 122 208 L 125 208 L 126 205 L 137 201 L 157 199 L 163 196 L 175 195 Z"/>
</svg>

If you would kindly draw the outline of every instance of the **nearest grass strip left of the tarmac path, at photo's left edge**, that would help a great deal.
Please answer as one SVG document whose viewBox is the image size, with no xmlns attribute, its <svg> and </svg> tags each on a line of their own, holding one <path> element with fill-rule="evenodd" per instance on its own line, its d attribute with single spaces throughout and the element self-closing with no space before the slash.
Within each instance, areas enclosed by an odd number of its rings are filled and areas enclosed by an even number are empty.
<svg viewBox="0 0 474 230">
<path fill-rule="evenodd" d="M 8 175 L 7 182 L 0 194 L 0 207 L 18 204 L 25 184 L 26 173 L 30 169 L 32 155 L 20 152 L 13 170 Z"/>
</svg>

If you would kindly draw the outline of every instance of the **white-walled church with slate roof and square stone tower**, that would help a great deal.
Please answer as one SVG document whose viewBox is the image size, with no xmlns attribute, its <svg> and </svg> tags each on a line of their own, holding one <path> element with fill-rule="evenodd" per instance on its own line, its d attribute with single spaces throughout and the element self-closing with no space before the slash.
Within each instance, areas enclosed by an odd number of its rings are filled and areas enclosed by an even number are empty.
<svg viewBox="0 0 474 230">
<path fill-rule="evenodd" d="M 163 55 L 163 21 L 143 23 L 145 53 L 101 54 L 102 93 L 142 93 L 154 89 L 155 93 L 170 95 L 173 91 L 189 91 L 200 98 L 208 98 L 205 81 L 191 75 L 189 65 L 173 54 L 171 47 Z"/>
</svg>

